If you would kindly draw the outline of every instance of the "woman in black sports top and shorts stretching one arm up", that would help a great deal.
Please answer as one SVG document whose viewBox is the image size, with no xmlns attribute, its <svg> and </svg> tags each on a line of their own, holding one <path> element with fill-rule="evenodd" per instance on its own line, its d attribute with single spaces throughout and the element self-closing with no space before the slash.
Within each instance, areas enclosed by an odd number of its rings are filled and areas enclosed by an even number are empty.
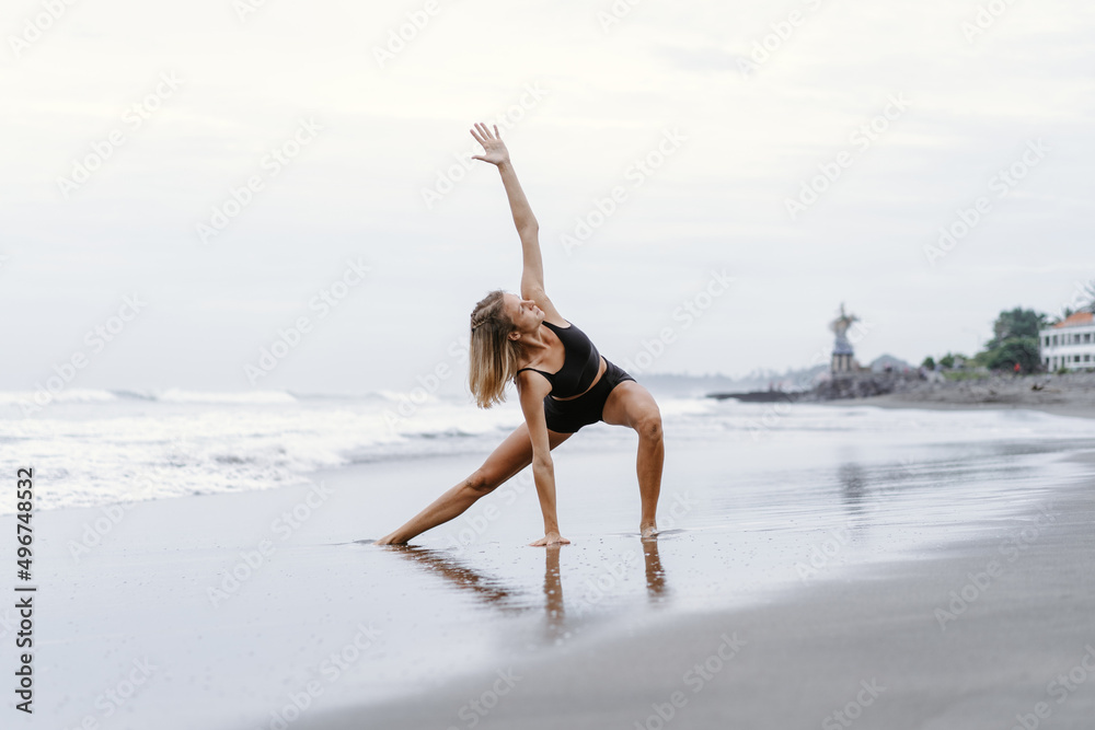
<svg viewBox="0 0 1095 730">
<path fill-rule="evenodd" d="M 665 457 L 658 406 L 634 378 L 601 357 L 589 338 L 564 320 L 548 299 L 540 227 L 517 182 L 498 127 L 495 125 L 491 134 L 486 125 L 476 124 L 471 134 L 484 152 L 472 159 L 497 166 L 502 174 L 525 252 L 525 271 L 520 297 L 498 289 L 472 311 L 469 382 L 476 404 L 489 408 L 506 399 L 506 384 L 512 380 L 525 422 L 471 476 L 377 543 L 403 544 L 448 522 L 530 463 L 544 517 L 544 536 L 531 545 L 569 543 L 560 534 L 555 515 L 551 450 L 583 426 L 599 420 L 638 432 L 639 532 L 650 537 L 657 532 L 655 513 Z"/>
</svg>

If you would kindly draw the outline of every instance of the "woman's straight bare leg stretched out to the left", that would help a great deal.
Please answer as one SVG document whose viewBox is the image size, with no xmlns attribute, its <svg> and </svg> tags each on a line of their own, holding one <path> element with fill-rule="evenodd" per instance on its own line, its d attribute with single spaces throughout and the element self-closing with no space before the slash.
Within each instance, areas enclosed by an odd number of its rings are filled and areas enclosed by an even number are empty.
<svg viewBox="0 0 1095 730">
<path fill-rule="evenodd" d="M 548 430 L 548 442 L 552 449 L 568 438 L 569 433 Z M 402 545 L 427 530 L 448 522 L 531 463 L 532 439 L 529 438 L 528 425 L 521 424 L 471 476 L 438 497 L 402 528 L 378 540 L 377 544 Z"/>
</svg>

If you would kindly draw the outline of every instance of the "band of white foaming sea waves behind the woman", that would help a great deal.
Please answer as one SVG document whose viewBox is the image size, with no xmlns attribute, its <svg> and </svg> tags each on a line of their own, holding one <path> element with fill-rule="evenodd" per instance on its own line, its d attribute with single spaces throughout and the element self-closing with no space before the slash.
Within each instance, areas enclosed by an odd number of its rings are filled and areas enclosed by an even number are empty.
<svg viewBox="0 0 1095 730">
<path fill-rule="evenodd" d="M 739 404 L 654 393 L 667 438 L 763 448 L 1095 439 L 1095 421 L 1033 412 L 922 410 Z M 33 394 L 0 392 L 0 473 L 34 466 L 38 509 L 90 507 L 306 484 L 320 470 L 383 460 L 488 454 L 523 418 L 515 397 L 492 409 L 466 398 L 378 392 L 157 393 L 73 390 L 24 416 Z M 630 442 L 629 429 L 586 427 L 568 449 Z M 0 514 L 12 512 L 0 503 Z"/>
</svg>

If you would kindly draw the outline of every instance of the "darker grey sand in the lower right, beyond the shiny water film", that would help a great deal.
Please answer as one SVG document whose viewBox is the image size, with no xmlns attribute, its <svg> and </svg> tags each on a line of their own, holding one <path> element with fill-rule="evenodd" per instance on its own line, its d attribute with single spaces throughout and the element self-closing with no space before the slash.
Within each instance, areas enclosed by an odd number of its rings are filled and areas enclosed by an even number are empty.
<svg viewBox="0 0 1095 730">
<path fill-rule="evenodd" d="M 1095 479 L 917 559 L 298 727 L 1088 729 L 1093 524 Z"/>
</svg>

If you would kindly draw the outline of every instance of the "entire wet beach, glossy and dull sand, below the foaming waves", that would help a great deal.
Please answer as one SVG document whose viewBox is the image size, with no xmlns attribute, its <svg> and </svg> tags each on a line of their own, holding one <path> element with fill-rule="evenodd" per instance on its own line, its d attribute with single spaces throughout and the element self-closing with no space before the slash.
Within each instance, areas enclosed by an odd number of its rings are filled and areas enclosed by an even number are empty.
<svg viewBox="0 0 1095 730">
<path fill-rule="evenodd" d="M 1090 422 L 740 408 L 758 428 L 667 432 L 648 543 L 622 429 L 556 451 L 557 551 L 526 546 L 528 471 L 413 548 L 359 542 L 483 454 L 36 513 L 27 727 L 825 728 L 846 709 L 863 728 L 1010 728 L 1083 660 Z M 1085 675 L 1051 727 L 1086 727 L 1093 697 Z"/>
</svg>

